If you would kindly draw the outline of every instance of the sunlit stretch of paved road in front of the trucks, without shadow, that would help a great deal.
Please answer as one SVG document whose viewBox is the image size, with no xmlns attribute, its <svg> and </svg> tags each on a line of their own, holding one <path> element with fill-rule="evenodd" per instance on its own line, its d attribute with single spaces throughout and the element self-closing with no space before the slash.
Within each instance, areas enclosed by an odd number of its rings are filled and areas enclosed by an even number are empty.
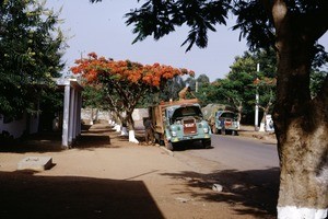
<svg viewBox="0 0 328 219">
<path fill-rule="evenodd" d="M 192 149 L 176 153 L 191 154 L 219 162 L 231 170 L 267 170 L 279 166 L 277 146 L 236 136 L 212 136 L 212 149 Z"/>
</svg>

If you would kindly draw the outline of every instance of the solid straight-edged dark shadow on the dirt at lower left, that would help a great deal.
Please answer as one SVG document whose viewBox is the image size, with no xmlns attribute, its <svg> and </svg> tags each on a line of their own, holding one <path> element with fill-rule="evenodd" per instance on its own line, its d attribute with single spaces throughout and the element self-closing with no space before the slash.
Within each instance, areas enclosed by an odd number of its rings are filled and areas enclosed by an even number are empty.
<svg viewBox="0 0 328 219">
<path fill-rule="evenodd" d="M 141 181 L 0 172 L 0 218 L 164 218 Z"/>
</svg>

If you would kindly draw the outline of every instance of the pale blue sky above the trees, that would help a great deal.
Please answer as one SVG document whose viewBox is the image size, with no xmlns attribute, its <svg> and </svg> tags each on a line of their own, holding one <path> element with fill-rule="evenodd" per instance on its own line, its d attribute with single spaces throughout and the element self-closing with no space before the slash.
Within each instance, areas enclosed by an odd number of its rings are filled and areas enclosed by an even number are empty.
<svg viewBox="0 0 328 219">
<path fill-rule="evenodd" d="M 61 31 L 68 37 L 68 48 L 63 56 L 68 72 L 74 60 L 86 57 L 89 53 L 113 58 L 131 60 L 142 65 L 159 62 L 175 68 L 186 68 L 196 72 L 196 78 L 207 74 L 210 81 L 224 78 L 236 56 L 248 49 L 246 41 L 239 41 L 239 32 L 232 31 L 233 18 L 226 26 L 216 26 L 216 32 L 209 32 L 207 48 L 194 46 L 186 53 L 180 45 L 187 38 L 188 30 L 177 27 L 176 32 L 159 41 L 152 37 L 132 44 L 136 34 L 133 26 L 125 24 L 124 15 L 141 5 L 137 0 L 103 0 L 90 3 L 89 0 L 47 0 L 47 7 L 60 12 Z M 328 46 L 328 34 L 323 39 Z M 325 45 L 326 44 L 326 45 Z"/>
</svg>

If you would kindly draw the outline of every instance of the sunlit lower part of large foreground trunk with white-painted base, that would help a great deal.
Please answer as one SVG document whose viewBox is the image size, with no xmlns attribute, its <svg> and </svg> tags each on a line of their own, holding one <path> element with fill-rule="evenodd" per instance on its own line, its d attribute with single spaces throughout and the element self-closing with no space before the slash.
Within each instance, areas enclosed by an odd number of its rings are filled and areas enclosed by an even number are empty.
<svg viewBox="0 0 328 219">
<path fill-rule="evenodd" d="M 314 107 L 317 107 L 314 104 Z M 314 116 L 319 112 L 309 111 Z M 279 135 L 281 159 L 278 218 L 324 219 L 328 203 L 328 127 L 312 116 L 288 119 Z M 311 125 L 309 125 L 311 124 Z M 313 127 L 309 127 L 313 126 Z"/>
</svg>

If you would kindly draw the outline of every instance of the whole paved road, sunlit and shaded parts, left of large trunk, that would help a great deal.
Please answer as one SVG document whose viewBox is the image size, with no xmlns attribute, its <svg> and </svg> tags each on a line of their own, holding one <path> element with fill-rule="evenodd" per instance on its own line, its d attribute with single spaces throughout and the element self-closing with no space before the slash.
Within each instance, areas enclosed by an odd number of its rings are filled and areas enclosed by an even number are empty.
<svg viewBox="0 0 328 219">
<path fill-rule="evenodd" d="M 276 143 L 242 136 L 212 136 L 212 149 L 188 147 L 174 155 L 199 173 L 207 183 L 223 186 L 244 199 L 274 215 L 279 191 L 279 159 Z M 237 200 L 239 201 L 239 200 Z M 259 217 L 266 218 L 266 217 Z"/>
</svg>

